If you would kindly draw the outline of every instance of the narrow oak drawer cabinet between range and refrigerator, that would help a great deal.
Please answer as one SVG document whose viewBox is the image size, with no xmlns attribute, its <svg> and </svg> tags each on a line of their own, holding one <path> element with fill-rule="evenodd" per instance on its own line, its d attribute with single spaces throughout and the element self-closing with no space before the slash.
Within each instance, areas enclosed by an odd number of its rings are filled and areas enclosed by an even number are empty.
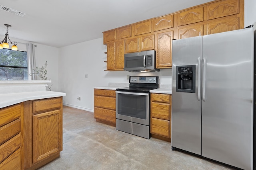
<svg viewBox="0 0 256 170">
<path fill-rule="evenodd" d="M 171 141 L 171 95 L 152 93 L 150 102 L 150 133 L 152 137 Z"/>
</svg>

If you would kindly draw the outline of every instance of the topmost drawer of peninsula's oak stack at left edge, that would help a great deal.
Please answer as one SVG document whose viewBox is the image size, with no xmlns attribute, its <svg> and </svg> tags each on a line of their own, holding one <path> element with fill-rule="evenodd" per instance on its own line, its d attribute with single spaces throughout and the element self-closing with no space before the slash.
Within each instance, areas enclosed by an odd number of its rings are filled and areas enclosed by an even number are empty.
<svg viewBox="0 0 256 170">
<path fill-rule="evenodd" d="M 0 127 L 18 119 L 21 114 L 21 104 L 8 106 L 0 109 Z"/>
</svg>

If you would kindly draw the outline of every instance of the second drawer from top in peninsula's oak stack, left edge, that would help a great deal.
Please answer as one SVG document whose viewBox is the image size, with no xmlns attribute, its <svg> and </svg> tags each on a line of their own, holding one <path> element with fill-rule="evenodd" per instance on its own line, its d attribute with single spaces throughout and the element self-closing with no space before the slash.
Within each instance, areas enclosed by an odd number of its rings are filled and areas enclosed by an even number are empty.
<svg viewBox="0 0 256 170">
<path fill-rule="evenodd" d="M 12 121 L 11 123 L 8 123 L 7 125 L 0 127 L 0 145 L 8 141 L 14 135 L 20 133 L 20 129 L 20 119 L 17 119 L 15 121 Z"/>
</svg>

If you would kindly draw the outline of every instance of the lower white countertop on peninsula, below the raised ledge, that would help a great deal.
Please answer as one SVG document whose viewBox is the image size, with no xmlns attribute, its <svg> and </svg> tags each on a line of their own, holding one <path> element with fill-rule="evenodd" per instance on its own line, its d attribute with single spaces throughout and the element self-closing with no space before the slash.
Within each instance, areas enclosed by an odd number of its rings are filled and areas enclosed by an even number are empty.
<svg viewBox="0 0 256 170">
<path fill-rule="evenodd" d="M 38 92 L 20 92 L 20 93 L 8 93 L 0 94 L 0 108 L 18 104 L 28 100 L 37 100 L 44 98 L 54 98 L 66 96 L 66 93 L 51 92 L 51 91 L 38 91 Z"/>
</svg>

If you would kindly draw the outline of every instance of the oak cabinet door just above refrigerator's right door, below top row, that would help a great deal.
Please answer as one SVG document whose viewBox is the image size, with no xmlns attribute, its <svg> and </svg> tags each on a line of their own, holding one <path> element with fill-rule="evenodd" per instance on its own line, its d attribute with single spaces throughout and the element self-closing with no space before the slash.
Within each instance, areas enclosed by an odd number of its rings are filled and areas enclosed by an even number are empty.
<svg viewBox="0 0 256 170">
<path fill-rule="evenodd" d="M 206 23 L 204 26 L 204 34 L 214 34 L 221 33 L 225 31 L 233 31 L 239 29 L 239 18 L 235 17 L 225 17 L 223 19 L 212 20 Z"/>
</svg>

